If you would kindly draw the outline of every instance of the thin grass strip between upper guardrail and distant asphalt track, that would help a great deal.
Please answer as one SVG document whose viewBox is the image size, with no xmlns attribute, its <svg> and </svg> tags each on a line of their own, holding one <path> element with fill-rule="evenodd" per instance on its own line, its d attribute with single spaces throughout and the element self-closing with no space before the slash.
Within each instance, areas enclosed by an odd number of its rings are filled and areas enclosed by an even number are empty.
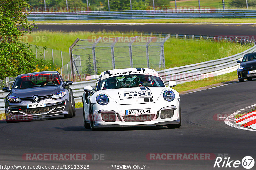
<svg viewBox="0 0 256 170">
<path fill-rule="evenodd" d="M 32 21 L 29 21 L 32 23 Z M 220 23 L 256 23 L 253 18 L 236 18 L 236 19 L 119 19 L 119 20 L 46 20 L 35 21 L 35 23 L 197 23 L 197 22 L 220 22 Z"/>
</svg>

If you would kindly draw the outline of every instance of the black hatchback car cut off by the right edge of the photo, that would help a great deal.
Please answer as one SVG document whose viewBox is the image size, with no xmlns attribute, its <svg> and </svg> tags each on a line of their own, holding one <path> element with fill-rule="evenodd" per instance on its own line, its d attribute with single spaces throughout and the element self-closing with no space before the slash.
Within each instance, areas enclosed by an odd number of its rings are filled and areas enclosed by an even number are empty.
<svg viewBox="0 0 256 170">
<path fill-rule="evenodd" d="M 237 69 L 239 82 L 243 82 L 244 79 L 251 81 L 252 78 L 256 78 L 256 53 L 244 55 L 242 62 L 238 60 L 237 63 L 241 63 Z"/>
</svg>

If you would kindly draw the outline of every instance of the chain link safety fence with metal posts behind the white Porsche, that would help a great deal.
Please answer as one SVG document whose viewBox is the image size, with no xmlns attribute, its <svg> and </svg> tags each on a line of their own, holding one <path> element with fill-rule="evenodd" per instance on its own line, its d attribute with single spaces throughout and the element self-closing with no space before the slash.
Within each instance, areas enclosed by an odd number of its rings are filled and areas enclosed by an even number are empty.
<svg viewBox="0 0 256 170">
<path fill-rule="evenodd" d="M 156 36 L 92 36 L 76 39 L 70 47 L 72 64 L 62 67 L 62 73 L 78 75 L 80 81 L 87 75 L 117 68 L 165 68 L 164 42 L 170 37 Z"/>
</svg>

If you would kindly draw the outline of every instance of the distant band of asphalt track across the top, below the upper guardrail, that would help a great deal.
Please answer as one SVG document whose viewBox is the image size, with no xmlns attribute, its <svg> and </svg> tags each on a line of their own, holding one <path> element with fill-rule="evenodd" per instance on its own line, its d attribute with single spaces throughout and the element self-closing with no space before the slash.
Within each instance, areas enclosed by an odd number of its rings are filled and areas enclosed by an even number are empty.
<svg viewBox="0 0 256 170">
<path fill-rule="evenodd" d="M 199 24 L 199 23 L 166 23 L 166 24 L 38 24 L 35 30 L 53 31 L 124 31 L 136 30 L 139 32 L 156 32 L 171 34 L 193 34 L 209 36 L 254 36 L 256 37 L 256 24 Z"/>
</svg>

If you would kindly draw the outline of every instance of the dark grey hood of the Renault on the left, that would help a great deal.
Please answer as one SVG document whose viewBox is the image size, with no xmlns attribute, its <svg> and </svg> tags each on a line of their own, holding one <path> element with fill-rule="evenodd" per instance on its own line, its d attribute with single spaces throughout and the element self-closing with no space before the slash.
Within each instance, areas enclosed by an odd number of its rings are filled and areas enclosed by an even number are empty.
<svg viewBox="0 0 256 170">
<path fill-rule="evenodd" d="M 62 84 L 58 86 L 47 86 L 47 87 L 33 87 L 28 89 L 12 89 L 9 96 L 15 96 L 19 98 L 28 98 L 37 95 L 40 96 L 47 96 L 52 95 L 58 91 L 63 91 Z"/>
</svg>

